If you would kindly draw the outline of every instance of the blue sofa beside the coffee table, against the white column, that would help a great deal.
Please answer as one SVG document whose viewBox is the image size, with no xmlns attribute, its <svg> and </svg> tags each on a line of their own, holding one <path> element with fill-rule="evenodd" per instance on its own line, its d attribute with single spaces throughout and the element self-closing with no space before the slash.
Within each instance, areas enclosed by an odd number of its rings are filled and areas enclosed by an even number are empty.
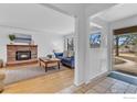
<svg viewBox="0 0 137 102">
<path fill-rule="evenodd" d="M 74 66 L 75 66 L 74 56 L 63 57 L 63 53 L 54 53 L 54 55 L 55 55 L 56 58 L 61 59 L 62 65 L 74 68 Z"/>
</svg>

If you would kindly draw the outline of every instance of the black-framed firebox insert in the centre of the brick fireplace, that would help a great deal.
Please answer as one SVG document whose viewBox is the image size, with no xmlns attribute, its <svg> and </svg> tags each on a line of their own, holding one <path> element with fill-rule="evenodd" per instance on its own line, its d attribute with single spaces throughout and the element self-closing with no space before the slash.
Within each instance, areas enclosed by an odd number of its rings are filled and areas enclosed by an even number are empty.
<svg viewBox="0 0 137 102">
<path fill-rule="evenodd" d="M 31 59 L 31 50 L 18 50 L 15 54 L 17 60 L 28 60 Z"/>
</svg>

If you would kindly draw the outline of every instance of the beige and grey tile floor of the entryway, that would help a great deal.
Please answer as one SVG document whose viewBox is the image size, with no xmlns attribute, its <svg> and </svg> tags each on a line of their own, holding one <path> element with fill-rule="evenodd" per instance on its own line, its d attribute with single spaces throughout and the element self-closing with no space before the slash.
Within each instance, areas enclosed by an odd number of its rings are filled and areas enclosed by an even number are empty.
<svg viewBox="0 0 137 102">
<path fill-rule="evenodd" d="M 81 87 L 71 86 L 60 93 L 137 93 L 137 86 L 105 77 Z"/>
</svg>

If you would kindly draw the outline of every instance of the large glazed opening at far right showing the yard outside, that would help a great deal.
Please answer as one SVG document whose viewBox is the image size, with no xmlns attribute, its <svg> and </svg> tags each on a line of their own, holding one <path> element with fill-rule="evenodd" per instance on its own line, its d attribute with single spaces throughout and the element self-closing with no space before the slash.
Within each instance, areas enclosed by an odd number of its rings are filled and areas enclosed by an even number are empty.
<svg viewBox="0 0 137 102">
<path fill-rule="evenodd" d="M 114 70 L 137 76 L 137 26 L 114 30 Z"/>
</svg>

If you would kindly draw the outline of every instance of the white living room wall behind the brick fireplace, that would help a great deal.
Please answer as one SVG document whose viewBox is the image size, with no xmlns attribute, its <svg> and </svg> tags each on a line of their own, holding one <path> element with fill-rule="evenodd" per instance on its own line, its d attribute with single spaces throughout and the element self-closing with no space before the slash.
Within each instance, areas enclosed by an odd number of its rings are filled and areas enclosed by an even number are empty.
<svg viewBox="0 0 137 102">
<path fill-rule="evenodd" d="M 28 30 L 0 27 L 0 59 L 7 61 L 7 44 L 10 44 L 9 34 L 23 33 L 31 34 L 34 43 L 38 45 L 38 56 L 46 56 L 53 52 L 53 48 L 63 50 L 63 36 L 54 33 L 32 32 Z"/>
</svg>

